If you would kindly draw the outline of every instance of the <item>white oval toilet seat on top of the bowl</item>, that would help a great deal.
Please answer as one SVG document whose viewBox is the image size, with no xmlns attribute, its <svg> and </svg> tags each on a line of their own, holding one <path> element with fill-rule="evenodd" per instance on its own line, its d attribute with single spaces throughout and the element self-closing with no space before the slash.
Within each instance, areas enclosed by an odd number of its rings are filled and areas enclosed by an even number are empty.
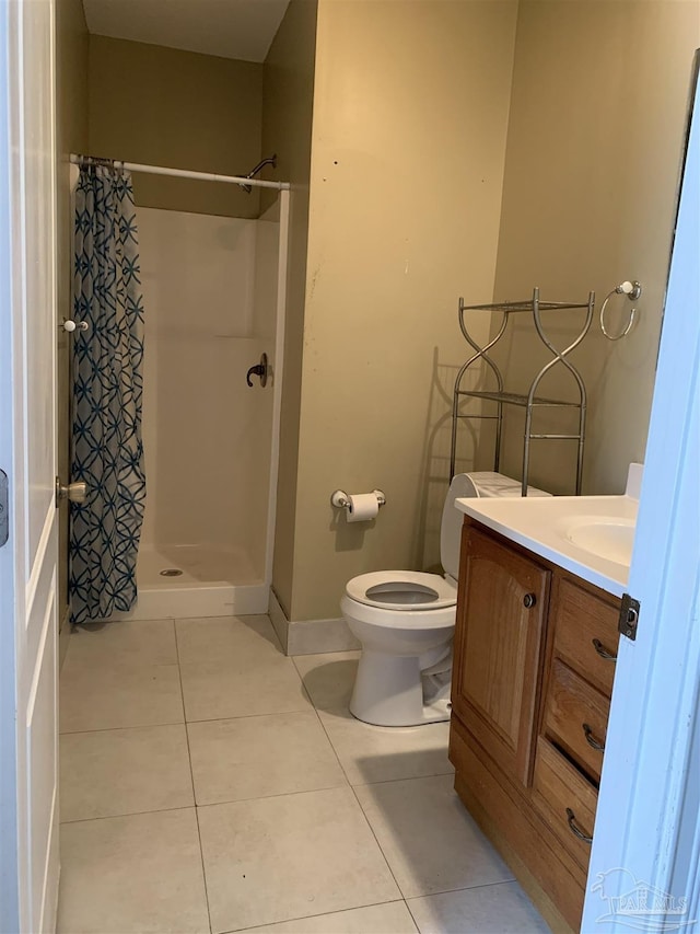
<svg viewBox="0 0 700 934">
<path fill-rule="evenodd" d="M 439 610 L 457 602 L 457 583 L 418 570 L 375 570 L 348 581 L 351 600 L 385 610 Z"/>
</svg>

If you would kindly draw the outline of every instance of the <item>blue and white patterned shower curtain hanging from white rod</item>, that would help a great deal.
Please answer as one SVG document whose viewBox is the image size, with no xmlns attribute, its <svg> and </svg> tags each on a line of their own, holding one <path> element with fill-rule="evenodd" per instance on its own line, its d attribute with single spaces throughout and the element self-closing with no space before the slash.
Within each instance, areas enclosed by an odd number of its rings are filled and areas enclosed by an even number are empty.
<svg viewBox="0 0 700 934">
<path fill-rule="evenodd" d="M 88 164 L 75 193 L 71 621 L 104 619 L 136 600 L 145 503 L 141 399 L 143 307 L 130 173 Z"/>
</svg>

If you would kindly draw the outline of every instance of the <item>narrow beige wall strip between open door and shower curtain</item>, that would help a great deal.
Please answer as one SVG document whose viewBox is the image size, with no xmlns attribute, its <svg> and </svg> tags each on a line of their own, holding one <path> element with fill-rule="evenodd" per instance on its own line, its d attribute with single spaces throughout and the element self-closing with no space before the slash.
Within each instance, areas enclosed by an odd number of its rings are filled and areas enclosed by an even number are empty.
<svg viewBox="0 0 700 934">
<path fill-rule="evenodd" d="M 71 318 L 72 217 L 70 200 L 71 152 L 88 147 L 88 28 L 81 0 L 56 4 L 56 131 L 58 149 L 58 315 Z M 69 477 L 69 337 L 58 338 L 58 471 Z M 59 514 L 59 602 L 68 606 L 68 504 Z"/>
</svg>

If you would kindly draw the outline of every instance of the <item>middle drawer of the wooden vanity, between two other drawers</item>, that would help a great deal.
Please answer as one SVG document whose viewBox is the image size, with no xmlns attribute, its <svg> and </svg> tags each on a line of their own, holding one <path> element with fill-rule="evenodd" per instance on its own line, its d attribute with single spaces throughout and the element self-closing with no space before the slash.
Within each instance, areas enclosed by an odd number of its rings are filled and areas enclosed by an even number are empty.
<svg viewBox="0 0 700 934">
<path fill-rule="evenodd" d="M 545 705 L 545 735 L 584 772 L 600 779 L 609 701 L 559 658 L 552 659 Z"/>
</svg>

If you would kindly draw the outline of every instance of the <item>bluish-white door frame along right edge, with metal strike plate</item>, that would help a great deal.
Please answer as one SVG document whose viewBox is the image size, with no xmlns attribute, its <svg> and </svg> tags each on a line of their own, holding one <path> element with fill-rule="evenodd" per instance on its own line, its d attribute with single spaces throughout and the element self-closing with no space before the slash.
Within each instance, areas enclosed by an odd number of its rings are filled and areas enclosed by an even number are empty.
<svg viewBox="0 0 700 934">
<path fill-rule="evenodd" d="M 700 921 L 700 84 L 695 99 L 628 584 L 639 632 L 620 639 L 582 922 L 596 934 Z"/>
</svg>

